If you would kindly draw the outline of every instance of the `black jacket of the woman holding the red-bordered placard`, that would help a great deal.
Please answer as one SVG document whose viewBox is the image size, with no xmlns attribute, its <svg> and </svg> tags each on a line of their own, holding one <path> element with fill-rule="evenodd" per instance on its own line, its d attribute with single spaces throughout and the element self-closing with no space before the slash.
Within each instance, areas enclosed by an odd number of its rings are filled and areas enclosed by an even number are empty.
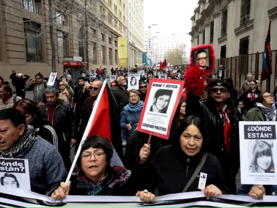
<svg viewBox="0 0 277 208">
<path fill-rule="evenodd" d="M 145 189 L 152 192 L 158 188 L 159 196 L 182 193 L 201 158 L 200 153 L 193 157 L 186 156 L 183 151 L 172 145 L 160 148 L 143 171 Z M 200 172 L 207 174 L 206 186 L 213 184 L 221 191 L 226 191 L 223 173 L 215 156 L 207 155 Z M 200 172 L 186 192 L 200 191 L 198 189 Z"/>
</svg>

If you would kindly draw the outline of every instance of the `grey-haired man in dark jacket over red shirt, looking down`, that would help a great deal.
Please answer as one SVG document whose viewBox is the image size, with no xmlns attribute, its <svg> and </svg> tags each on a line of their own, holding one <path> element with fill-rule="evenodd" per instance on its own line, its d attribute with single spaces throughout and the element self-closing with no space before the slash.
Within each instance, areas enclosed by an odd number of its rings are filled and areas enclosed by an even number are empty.
<svg viewBox="0 0 277 208">
<path fill-rule="evenodd" d="M 41 107 L 41 113 L 57 133 L 58 141 L 61 143 L 58 150 L 68 171 L 71 167 L 70 146 L 76 144 L 75 116 L 71 106 L 59 99 L 57 89 L 47 88 L 45 94 L 47 103 Z"/>
</svg>

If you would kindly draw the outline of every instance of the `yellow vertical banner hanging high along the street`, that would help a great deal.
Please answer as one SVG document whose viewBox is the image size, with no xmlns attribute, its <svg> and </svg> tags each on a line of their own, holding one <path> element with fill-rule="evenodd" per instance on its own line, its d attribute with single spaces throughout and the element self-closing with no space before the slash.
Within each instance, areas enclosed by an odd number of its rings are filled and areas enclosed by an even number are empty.
<svg viewBox="0 0 277 208">
<path fill-rule="evenodd" d="M 120 67 L 128 66 L 128 47 L 127 37 L 118 37 L 118 65 Z"/>
</svg>

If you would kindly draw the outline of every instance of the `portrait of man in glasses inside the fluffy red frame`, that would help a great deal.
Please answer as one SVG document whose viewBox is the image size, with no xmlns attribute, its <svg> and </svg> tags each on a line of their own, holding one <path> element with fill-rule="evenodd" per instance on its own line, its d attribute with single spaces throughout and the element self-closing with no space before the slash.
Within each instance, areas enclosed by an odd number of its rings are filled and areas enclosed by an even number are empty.
<svg viewBox="0 0 277 208">
<path fill-rule="evenodd" d="M 209 71 L 211 65 L 209 48 L 195 50 L 193 52 L 193 63 Z"/>
</svg>

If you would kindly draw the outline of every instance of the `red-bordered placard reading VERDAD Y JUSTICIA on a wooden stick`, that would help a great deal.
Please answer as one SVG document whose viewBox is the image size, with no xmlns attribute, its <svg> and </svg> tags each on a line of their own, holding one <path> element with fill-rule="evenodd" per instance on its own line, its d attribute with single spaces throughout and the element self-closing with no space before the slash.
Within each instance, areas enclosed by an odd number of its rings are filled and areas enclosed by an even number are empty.
<svg viewBox="0 0 277 208">
<path fill-rule="evenodd" d="M 151 79 L 139 119 L 138 131 L 168 139 L 184 82 Z"/>
</svg>

